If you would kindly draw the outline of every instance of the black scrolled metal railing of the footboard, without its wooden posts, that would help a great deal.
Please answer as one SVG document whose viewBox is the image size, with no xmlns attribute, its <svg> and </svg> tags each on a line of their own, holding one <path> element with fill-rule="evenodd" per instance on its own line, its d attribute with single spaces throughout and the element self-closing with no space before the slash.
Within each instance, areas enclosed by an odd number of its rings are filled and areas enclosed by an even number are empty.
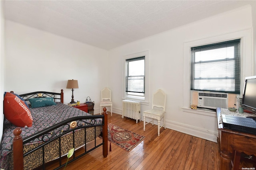
<svg viewBox="0 0 256 170">
<path fill-rule="evenodd" d="M 102 119 L 102 123 L 100 124 L 95 124 L 95 119 Z M 85 121 L 86 120 L 86 121 Z M 90 123 L 88 123 L 88 120 L 90 120 Z M 70 128 L 70 122 L 72 121 L 77 121 L 77 127 L 75 127 L 74 129 Z M 92 116 L 80 116 L 80 117 L 72 117 L 69 119 L 66 119 L 60 123 L 57 123 L 51 127 L 48 127 L 40 132 L 34 133 L 33 135 L 29 136 L 29 137 L 25 137 L 23 140 L 23 145 L 25 145 L 26 143 L 30 143 L 30 141 L 36 139 L 36 138 L 40 138 L 40 141 L 43 141 L 44 143 L 42 145 L 39 145 L 38 147 L 30 150 L 27 153 L 24 153 L 24 157 L 27 156 L 28 154 L 31 154 L 32 152 L 34 152 L 35 150 L 41 149 L 43 150 L 42 154 L 43 154 L 43 158 L 42 158 L 42 169 L 45 169 L 45 160 L 44 160 L 44 146 L 48 145 L 48 143 L 51 143 L 54 140 L 58 140 L 59 142 L 59 157 L 57 158 L 57 160 L 59 161 L 59 167 L 55 168 L 55 170 L 60 169 L 62 167 L 65 166 L 66 162 L 62 162 L 62 155 L 61 155 L 61 143 L 60 143 L 60 138 L 64 135 L 66 135 L 67 133 L 72 133 L 72 137 L 73 137 L 73 148 L 75 148 L 75 142 L 74 142 L 74 132 L 76 130 L 79 129 L 84 129 L 84 152 L 78 156 L 76 156 L 76 153 L 74 152 L 73 154 L 73 159 L 69 160 L 68 163 L 73 162 L 74 160 L 80 158 L 81 156 L 84 156 L 85 154 L 87 154 L 88 152 L 91 152 L 94 149 L 97 149 L 98 147 L 102 146 L 104 144 L 104 141 L 102 139 L 102 142 L 99 144 L 96 144 L 96 127 L 97 126 L 101 126 L 104 125 L 104 115 L 92 115 Z M 87 150 L 86 148 L 86 128 L 89 127 L 94 127 L 94 147 Z M 72 149 L 72 148 L 70 148 Z"/>
</svg>

